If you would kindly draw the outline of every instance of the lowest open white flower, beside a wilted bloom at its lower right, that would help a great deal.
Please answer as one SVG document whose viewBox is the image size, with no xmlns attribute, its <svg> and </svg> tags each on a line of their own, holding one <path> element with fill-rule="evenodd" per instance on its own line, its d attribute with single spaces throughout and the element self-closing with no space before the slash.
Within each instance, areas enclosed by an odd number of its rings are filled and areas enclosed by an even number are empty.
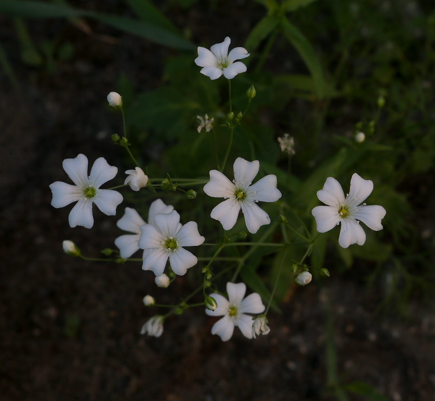
<svg viewBox="0 0 435 401">
<path fill-rule="evenodd" d="M 218 307 L 214 311 L 206 309 L 205 313 L 209 316 L 224 316 L 211 327 L 211 334 L 218 334 L 222 341 L 228 341 L 233 335 L 234 326 L 238 326 L 246 338 L 252 338 L 254 321 L 247 313 L 259 314 L 264 311 L 260 295 L 254 292 L 243 299 L 246 293 L 244 283 L 227 283 L 227 293 L 229 301 L 221 294 L 210 294 Z"/>
</svg>

